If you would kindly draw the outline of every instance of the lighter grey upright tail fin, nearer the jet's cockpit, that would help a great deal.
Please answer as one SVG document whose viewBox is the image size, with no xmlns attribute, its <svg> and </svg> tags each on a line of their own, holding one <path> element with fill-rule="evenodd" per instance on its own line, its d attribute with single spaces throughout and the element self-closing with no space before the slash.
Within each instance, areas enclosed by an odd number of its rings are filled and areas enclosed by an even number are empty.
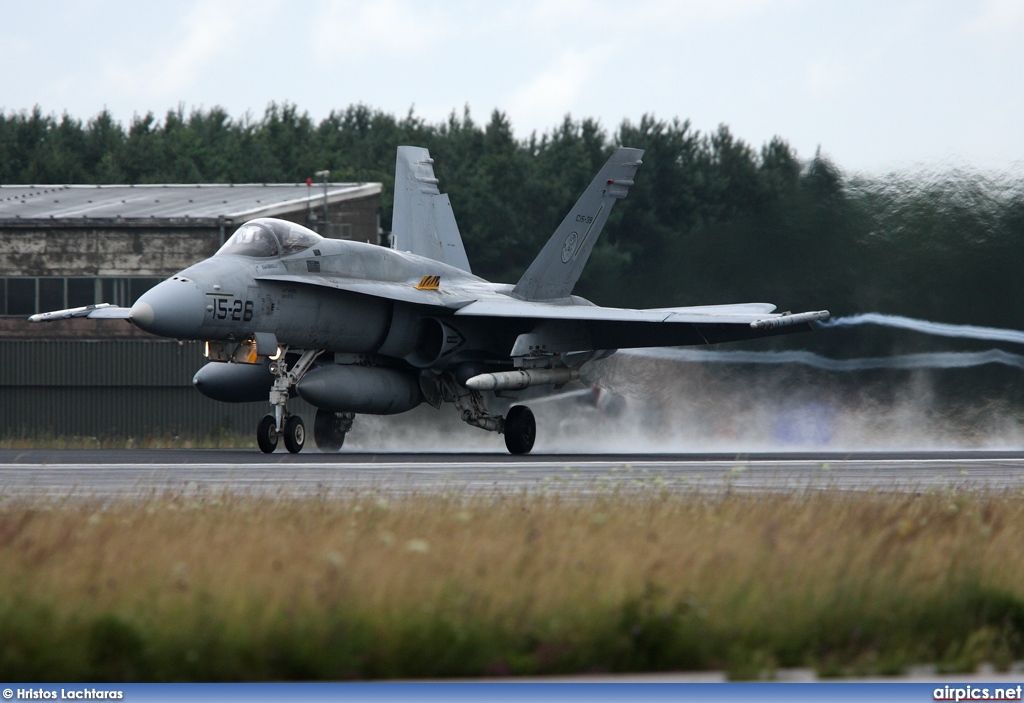
<svg viewBox="0 0 1024 703">
<path fill-rule="evenodd" d="M 420 146 L 399 146 L 394 167 L 393 247 L 469 271 L 469 259 L 452 214 L 437 189 L 433 160 Z"/>
</svg>

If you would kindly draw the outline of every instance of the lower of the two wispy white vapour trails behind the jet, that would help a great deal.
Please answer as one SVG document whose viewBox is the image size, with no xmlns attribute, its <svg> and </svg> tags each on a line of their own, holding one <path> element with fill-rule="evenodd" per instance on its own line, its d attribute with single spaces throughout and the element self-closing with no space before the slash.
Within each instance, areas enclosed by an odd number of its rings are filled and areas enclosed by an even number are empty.
<svg viewBox="0 0 1024 703">
<path fill-rule="evenodd" d="M 1001 349 L 984 352 L 932 352 L 902 356 L 831 359 L 808 351 L 708 351 L 703 349 L 652 348 L 624 349 L 620 354 L 672 361 L 710 363 L 801 364 L 829 371 L 864 371 L 878 368 L 970 368 L 1000 363 L 1024 370 L 1024 356 Z"/>
</svg>

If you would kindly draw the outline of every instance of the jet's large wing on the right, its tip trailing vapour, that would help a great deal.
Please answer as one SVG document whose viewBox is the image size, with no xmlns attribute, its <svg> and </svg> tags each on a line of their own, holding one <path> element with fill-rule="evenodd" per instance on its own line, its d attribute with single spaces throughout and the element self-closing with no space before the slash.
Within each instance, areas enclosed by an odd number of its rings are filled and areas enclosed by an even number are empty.
<svg viewBox="0 0 1024 703">
<path fill-rule="evenodd" d="M 530 348 L 568 352 L 736 342 L 808 331 L 815 320 L 828 318 L 826 310 L 774 314 L 774 309 L 745 303 L 631 310 L 510 298 L 470 303 L 455 314 L 534 321 L 534 331 L 520 336 L 513 355 Z"/>
</svg>

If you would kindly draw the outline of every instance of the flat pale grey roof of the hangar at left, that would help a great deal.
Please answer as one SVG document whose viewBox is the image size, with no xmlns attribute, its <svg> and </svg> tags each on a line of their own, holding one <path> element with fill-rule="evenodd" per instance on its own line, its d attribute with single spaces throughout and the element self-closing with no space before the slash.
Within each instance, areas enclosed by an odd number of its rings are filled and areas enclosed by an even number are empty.
<svg viewBox="0 0 1024 703">
<path fill-rule="evenodd" d="M 328 203 L 376 195 L 380 183 L 328 183 Z M 0 221 L 273 217 L 324 204 L 323 183 L 0 185 Z M 198 222 L 197 222 L 198 223 Z"/>
</svg>

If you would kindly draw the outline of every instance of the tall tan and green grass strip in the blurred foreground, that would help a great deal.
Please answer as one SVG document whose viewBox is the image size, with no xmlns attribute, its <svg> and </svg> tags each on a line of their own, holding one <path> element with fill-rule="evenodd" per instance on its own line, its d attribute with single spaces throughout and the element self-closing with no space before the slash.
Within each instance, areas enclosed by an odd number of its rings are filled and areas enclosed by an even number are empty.
<svg viewBox="0 0 1024 703">
<path fill-rule="evenodd" d="M 0 502 L 0 679 L 266 680 L 1024 654 L 1019 495 Z"/>
</svg>

